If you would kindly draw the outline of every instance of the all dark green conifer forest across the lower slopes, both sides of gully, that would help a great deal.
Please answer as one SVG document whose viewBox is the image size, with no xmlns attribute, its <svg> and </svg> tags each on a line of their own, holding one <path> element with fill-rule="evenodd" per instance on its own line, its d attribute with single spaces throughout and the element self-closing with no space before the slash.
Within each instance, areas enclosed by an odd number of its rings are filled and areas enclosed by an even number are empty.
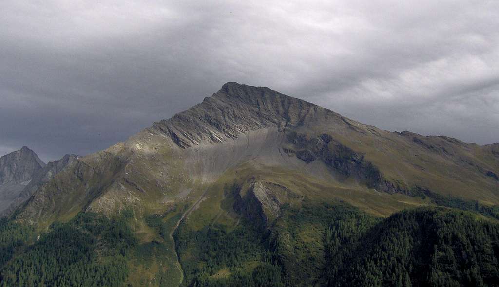
<svg viewBox="0 0 499 287">
<path fill-rule="evenodd" d="M 137 246 L 132 217 L 80 213 L 38 240 L 2 219 L 1 286 L 123 286 Z M 381 219 L 345 203 L 307 202 L 285 207 L 270 228 L 182 224 L 174 237 L 184 286 L 499 286 L 499 225 L 443 207 Z"/>
</svg>

